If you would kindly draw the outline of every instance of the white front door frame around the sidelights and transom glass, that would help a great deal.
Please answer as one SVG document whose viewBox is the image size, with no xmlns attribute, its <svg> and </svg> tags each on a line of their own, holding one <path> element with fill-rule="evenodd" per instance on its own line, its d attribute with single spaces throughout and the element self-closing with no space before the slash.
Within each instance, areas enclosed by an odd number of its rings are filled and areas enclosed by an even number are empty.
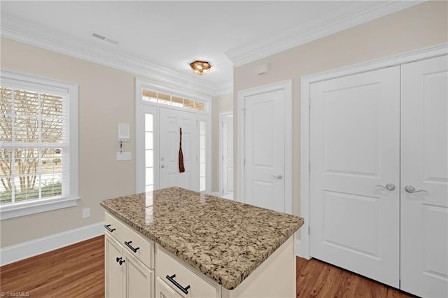
<svg viewBox="0 0 448 298">
<path fill-rule="evenodd" d="M 204 111 L 198 111 L 190 108 L 179 108 L 176 106 L 168 106 L 164 104 L 156 104 L 150 101 L 144 101 L 142 99 L 143 90 L 153 90 L 160 93 L 171 94 L 176 97 L 183 97 L 186 99 L 201 101 L 205 104 Z M 155 143 L 158 142 L 158 132 L 159 132 L 159 109 L 163 108 L 172 108 L 177 111 L 188 111 L 190 113 L 197 114 L 197 120 L 203 120 L 207 125 L 207 135 L 206 135 L 206 190 L 204 192 L 211 192 L 211 97 L 204 96 L 202 94 L 195 94 L 192 92 L 187 92 L 183 90 L 176 89 L 174 87 L 167 87 L 164 85 L 158 85 L 155 83 L 148 82 L 144 78 L 135 78 L 135 171 L 136 171 L 136 192 L 145 192 L 145 169 L 142 164 L 145 164 L 145 150 L 144 150 L 144 142 L 145 142 L 145 134 L 144 134 L 144 114 L 145 113 L 153 113 L 148 111 L 154 111 L 154 127 L 157 129 L 154 134 Z M 198 127 L 198 136 L 199 136 L 199 127 Z M 197 148 L 199 153 L 199 137 L 197 138 Z M 154 169 L 159 169 L 159 152 L 158 147 L 154 148 Z M 197 162 L 197 187 L 199 189 L 199 173 L 200 173 L 200 163 Z M 160 187 L 160 181 L 158 180 L 158 175 L 154 176 L 154 187 L 158 189 Z"/>
</svg>

